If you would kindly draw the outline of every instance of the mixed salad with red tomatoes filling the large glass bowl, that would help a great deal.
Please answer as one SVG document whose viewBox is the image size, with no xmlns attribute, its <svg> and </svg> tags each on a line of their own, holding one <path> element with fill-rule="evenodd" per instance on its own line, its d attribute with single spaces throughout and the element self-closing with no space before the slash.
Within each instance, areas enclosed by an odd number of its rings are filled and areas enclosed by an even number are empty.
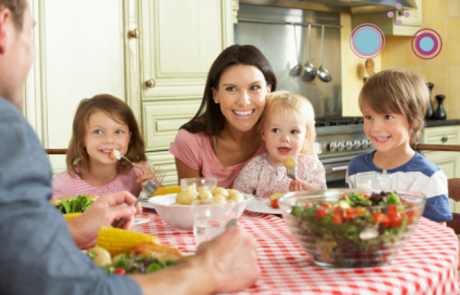
<svg viewBox="0 0 460 295">
<path fill-rule="evenodd" d="M 374 259 L 370 257 L 385 256 L 382 252 L 394 247 L 393 242 L 416 223 L 420 212 L 410 206 L 397 193 L 382 191 L 370 196 L 344 194 L 336 201 L 299 202 L 292 206 L 291 215 L 300 235 L 320 249 L 315 260 Z"/>
</svg>

